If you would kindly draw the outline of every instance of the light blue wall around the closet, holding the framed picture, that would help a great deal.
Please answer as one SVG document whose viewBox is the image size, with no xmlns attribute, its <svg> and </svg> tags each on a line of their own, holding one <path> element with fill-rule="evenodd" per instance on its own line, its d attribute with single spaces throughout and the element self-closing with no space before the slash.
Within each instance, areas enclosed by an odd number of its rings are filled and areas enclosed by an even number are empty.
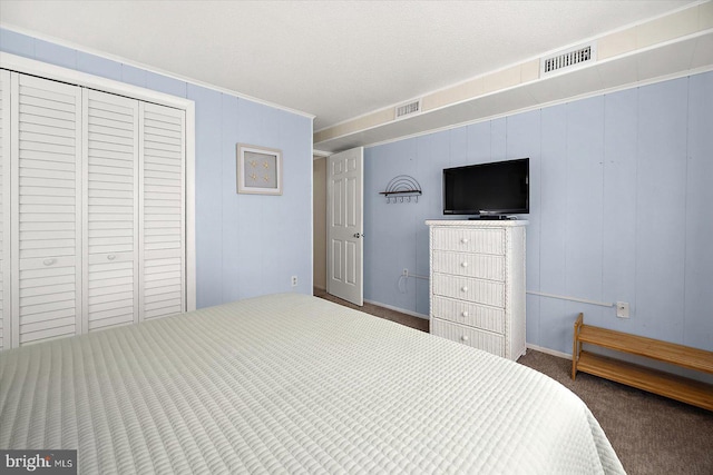
<svg viewBox="0 0 713 475">
<path fill-rule="evenodd" d="M 195 102 L 199 308 L 275 291 L 312 294 L 311 118 L 4 29 L 0 50 Z M 282 196 L 235 192 L 237 142 L 282 150 Z"/>
</svg>

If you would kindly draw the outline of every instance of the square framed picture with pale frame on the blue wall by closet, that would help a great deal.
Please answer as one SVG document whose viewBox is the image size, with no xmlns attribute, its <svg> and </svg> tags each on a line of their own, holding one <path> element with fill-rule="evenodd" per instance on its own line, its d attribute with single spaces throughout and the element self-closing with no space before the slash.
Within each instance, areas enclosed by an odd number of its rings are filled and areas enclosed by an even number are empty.
<svg viewBox="0 0 713 475">
<path fill-rule="evenodd" d="M 237 144 L 237 192 L 282 195 L 282 151 Z"/>
</svg>

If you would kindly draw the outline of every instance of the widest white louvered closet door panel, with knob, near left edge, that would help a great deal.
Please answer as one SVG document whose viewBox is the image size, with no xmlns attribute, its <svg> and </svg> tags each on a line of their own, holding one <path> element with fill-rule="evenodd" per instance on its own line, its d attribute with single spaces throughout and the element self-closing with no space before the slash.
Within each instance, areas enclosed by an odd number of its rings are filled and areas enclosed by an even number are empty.
<svg viewBox="0 0 713 475">
<path fill-rule="evenodd" d="M 21 346 L 81 333 L 81 89 L 14 72 L 11 81 L 12 346 Z"/>
</svg>

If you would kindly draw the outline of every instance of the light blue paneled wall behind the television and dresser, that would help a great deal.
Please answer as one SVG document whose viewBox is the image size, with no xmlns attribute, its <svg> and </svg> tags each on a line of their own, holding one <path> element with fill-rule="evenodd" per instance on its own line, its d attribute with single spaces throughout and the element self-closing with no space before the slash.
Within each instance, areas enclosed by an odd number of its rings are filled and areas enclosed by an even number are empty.
<svg viewBox="0 0 713 475">
<path fill-rule="evenodd" d="M 441 169 L 530 157 L 527 342 L 569 353 L 573 323 L 713 350 L 713 72 L 367 148 L 364 297 L 428 315 L 426 219 Z M 378 195 L 397 175 L 418 204 Z"/>
</svg>

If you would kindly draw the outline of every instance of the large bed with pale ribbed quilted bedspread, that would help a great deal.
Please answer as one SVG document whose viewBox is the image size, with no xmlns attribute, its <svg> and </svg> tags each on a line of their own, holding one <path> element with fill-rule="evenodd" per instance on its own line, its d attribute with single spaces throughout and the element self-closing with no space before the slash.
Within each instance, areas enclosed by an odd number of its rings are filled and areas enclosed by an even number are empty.
<svg viewBox="0 0 713 475">
<path fill-rule="evenodd" d="M 624 473 L 572 392 L 300 294 L 0 353 L 0 448 L 79 473 Z"/>
</svg>

